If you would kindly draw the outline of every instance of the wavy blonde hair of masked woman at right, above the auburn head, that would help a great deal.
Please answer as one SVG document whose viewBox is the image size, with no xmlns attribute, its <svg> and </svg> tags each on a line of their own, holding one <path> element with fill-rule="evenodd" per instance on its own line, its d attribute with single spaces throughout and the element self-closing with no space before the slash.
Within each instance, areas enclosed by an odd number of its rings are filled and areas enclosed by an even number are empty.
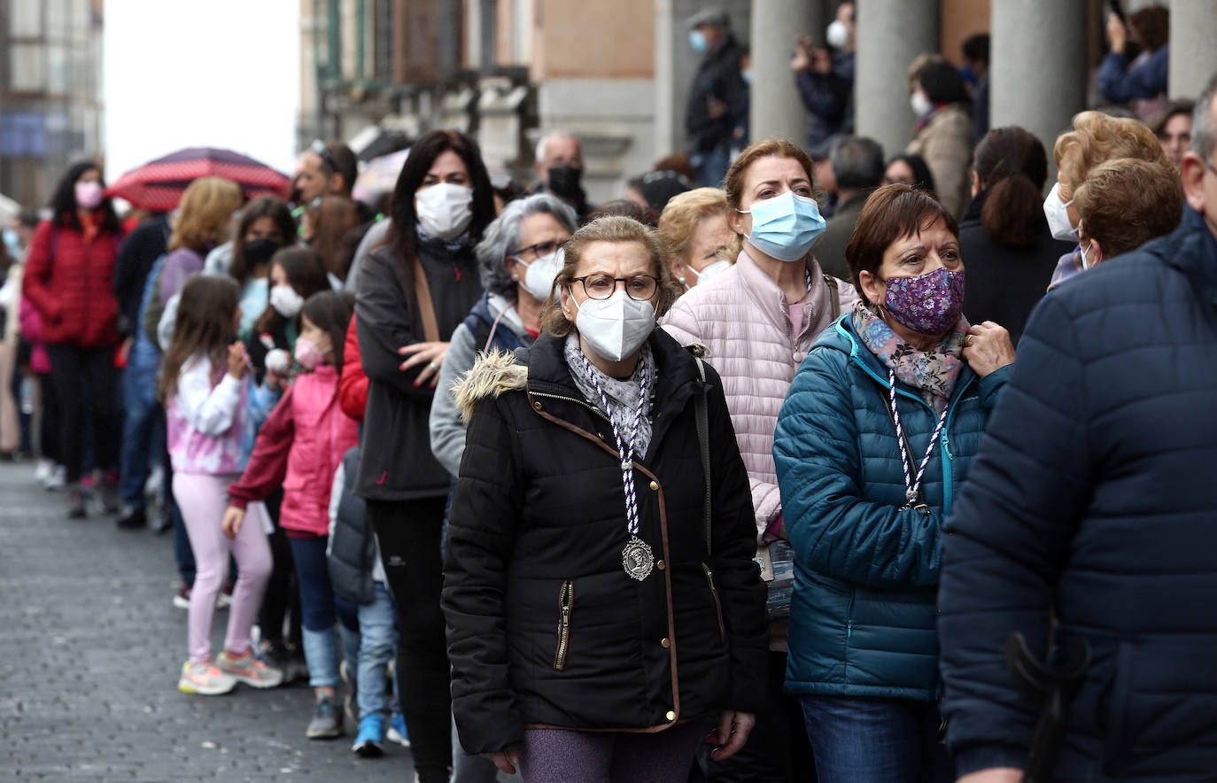
<svg viewBox="0 0 1217 783">
<path fill-rule="evenodd" d="M 1067 194 L 1086 181 L 1090 169 L 1104 161 L 1137 158 L 1171 166 L 1157 136 L 1139 119 L 1109 117 L 1103 112 L 1081 112 L 1073 129 L 1062 133 L 1053 146 L 1053 160 L 1069 180 Z"/>
</svg>

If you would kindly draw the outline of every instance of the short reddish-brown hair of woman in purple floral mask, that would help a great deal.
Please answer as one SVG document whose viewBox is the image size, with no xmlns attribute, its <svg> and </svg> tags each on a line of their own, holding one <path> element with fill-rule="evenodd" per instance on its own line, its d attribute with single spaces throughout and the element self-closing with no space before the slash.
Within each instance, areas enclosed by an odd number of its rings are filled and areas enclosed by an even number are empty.
<svg viewBox="0 0 1217 783">
<path fill-rule="evenodd" d="M 959 224 L 933 194 L 904 183 L 884 185 L 870 194 L 845 248 L 845 259 L 858 296 L 867 298 L 859 274 L 865 270 L 877 278 L 884 253 L 892 242 L 920 234 L 938 220 L 959 237 Z"/>
</svg>

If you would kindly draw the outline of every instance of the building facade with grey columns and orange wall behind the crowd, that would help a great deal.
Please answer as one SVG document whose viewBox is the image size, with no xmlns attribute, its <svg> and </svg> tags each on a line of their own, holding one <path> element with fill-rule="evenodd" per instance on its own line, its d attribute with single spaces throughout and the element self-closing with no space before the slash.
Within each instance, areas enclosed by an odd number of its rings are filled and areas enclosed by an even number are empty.
<svg viewBox="0 0 1217 783">
<path fill-rule="evenodd" d="M 1172 95 L 1217 71 L 1212 0 L 1172 11 Z M 1125 0 L 1128 12 L 1154 0 Z M 790 60 L 796 34 L 823 41 L 840 0 L 719 0 L 751 44 L 753 139 L 804 138 Z M 302 0 L 302 146 L 315 136 L 415 136 L 434 127 L 478 138 L 486 156 L 527 179 L 533 146 L 554 129 L 584 145 L 593 201 L 684 151 L 697 55 L 686 19 L 699 0 Z M 888 155 L 912 135 L 907 69 L 922 52 L 953 62 L 991 32 L 991 121 L 1021 124 L 1050 149 L 1095 104 L 1107 0 L 857 0 L 857 133 Z M 763 41 L 764 45 L 761 45 Z"/>
</svg>

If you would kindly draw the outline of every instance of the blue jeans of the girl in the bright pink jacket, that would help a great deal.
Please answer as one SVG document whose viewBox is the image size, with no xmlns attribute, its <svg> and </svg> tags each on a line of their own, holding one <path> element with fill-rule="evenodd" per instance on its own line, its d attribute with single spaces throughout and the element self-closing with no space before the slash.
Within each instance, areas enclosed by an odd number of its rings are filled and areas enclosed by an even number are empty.
<svg viewBox="0 0 1217 783">
<path fill-rule="evenodd" d="M 338 686 L 338 641 L 333 636 L 337 611 L 330 567 L 325 559 L 327 538 L 287 538 L 301 588 L 301 622 L 304 626 L 304 662 L 308 684 L 314 688 Z"/>
</svg>

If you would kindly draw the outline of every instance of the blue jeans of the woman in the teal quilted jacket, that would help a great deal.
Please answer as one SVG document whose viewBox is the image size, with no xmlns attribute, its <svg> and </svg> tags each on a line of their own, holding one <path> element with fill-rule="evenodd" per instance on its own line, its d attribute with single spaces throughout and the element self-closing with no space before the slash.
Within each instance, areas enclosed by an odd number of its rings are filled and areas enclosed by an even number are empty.
<svg viewBox="0 0 1217 783">
<path fill-rule="evenodd" d="M 950 783 L 938 705 L 874 697 L 802 697 L 819 783 Z"/>
</svg>

